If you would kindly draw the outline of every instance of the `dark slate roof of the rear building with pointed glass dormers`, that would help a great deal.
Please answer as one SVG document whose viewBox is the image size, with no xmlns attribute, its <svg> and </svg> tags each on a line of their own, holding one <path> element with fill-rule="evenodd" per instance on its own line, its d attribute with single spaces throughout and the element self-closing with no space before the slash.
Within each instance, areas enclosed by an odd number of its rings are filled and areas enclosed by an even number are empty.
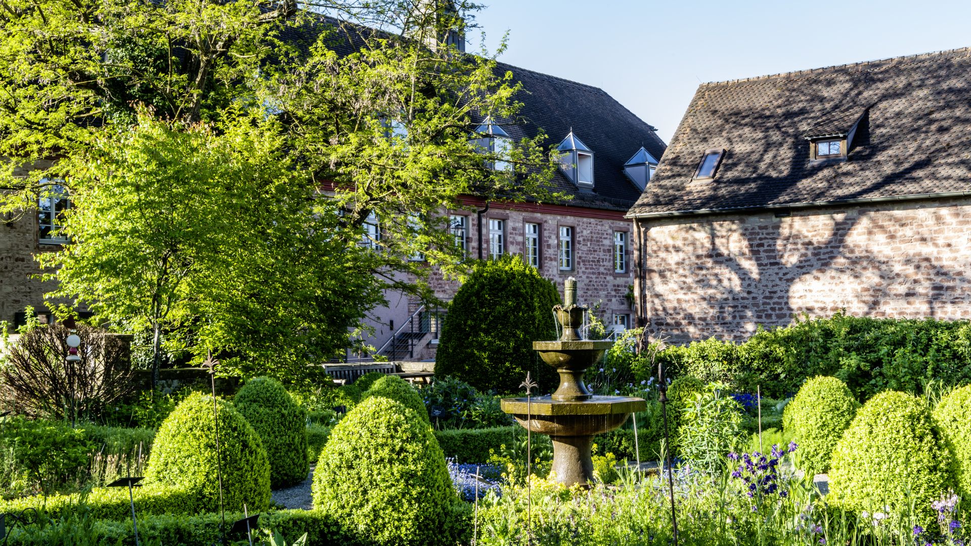
<svg viewBox="0 0 971 546">
<path fill-rule="evenodd" d="M 322 20 L 321 20 L 322 19 Z M 338 54 L 349 54 L 363 45 L 361 34 L 376 32 L 366 27 L 342 22 L 331 17 L 306 22 L 302 27 L 284 31 L 282 38 L 297 44 L 303 51 L 313 43 L 326 27 L 339 27 L 328 38 L 328 48 Z M 572 129 L 593 152 L 592 191 L 582 190 L 559 170 L 552 180 L 552 189 L 574 195 L 564 203 L 596 209 L 627 211 L 640 196 L 641 190 L 623 174 L 623 165 L 643 146 L 654 157 L 664 154 L 666 145 L 656 129 L 623 107 L 603 89 L 579 84 L 548 74 L 542 74 L 511 64 L 499 62 L 495 73 L 513 73 L 514 81 L 522 89 L 514 97 L 522 103 L 518 119 L 495 120 L 515 140 L 533 138 L 542 127 L 548 136 L 551 150 Z M 475 119 L 476 124 L 482 119 Z"/>
</svg>

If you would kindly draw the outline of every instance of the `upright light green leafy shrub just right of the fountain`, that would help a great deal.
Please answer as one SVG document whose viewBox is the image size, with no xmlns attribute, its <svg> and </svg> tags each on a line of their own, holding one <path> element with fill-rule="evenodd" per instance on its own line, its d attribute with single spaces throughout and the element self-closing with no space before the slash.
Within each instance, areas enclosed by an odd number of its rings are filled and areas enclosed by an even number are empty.
<svg viewBox="0 0 971 546">
<path fill-rule="evenodd" d="M 714 472 L 735 446 L 742 407 L 725 393 L 727 385 L 711 383 L 696 392 L 683 410 L 678 427 L 678 453 L 692 464 Z"/>
</svg>

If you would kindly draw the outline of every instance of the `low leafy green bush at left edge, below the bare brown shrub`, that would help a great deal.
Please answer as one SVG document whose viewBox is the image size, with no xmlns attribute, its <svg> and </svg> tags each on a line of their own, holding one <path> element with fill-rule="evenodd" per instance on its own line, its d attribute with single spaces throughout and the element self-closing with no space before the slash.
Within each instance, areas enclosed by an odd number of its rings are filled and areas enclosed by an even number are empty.
<svg viewBox="0 0 971 546">
<path fill-rule="evenodd" d="M 0 420 L 0 447 L 8 494 L 50 494 L 83 475 L 94 444 L 63 422 L 9 417 Z"/>
</svg>

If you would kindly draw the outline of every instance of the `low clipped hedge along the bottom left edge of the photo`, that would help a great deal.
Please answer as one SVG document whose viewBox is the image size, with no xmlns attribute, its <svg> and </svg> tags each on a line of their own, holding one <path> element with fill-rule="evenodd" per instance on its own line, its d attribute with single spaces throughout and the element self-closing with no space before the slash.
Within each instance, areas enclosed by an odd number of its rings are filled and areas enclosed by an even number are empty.
<svg viewBox="0 0 971 546">
<path fill-rule="evenodd" d="M 127 492 L 125 493 L 127 495 Z M 127 504 L 126 504 L 127 507 Z M 130 510 L 130 509 L 129 509 Z M 62 543 L 65 536 L 91 536 L 91 544 L 133 544 L 134 532 L 131 512 L 128 518 L 118 521 L 97 521 L 93 529 L 83 529 L 90 520 L 84 519 L 83 509 L 77 510 L 77 518 L 65 518 L 48 526 L 31 525 L 26 528 L 11 529 L 8 544 L 17 546 L 47 546 Z M 251 513 L 252 515 L 252 513 Z M 242 519 L 243 513 L 226 512 L 226 522 Z M 165 546 L 200 546 L 219 543 L 218 513 L 197 516 L 143 516 L 138 518 L 138 534 L 143 544 L 164 544 Z M 317 510 L 279 510 L 262 514 L 259 527 L 283 533 L 286 543 L 292 544 L 303 533 L 307 533 L 307 544 L 342 544 L 365 546 L 355 540 L 330 516 Z M 230 540 L 243 540 L 245 533 L 232 534 Z"/>
</svg>

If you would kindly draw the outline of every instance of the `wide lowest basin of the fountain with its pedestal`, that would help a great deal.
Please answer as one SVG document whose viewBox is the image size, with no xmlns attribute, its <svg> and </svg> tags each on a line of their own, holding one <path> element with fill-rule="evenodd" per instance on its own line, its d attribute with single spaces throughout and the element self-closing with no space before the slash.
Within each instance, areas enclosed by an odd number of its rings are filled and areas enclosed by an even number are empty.
<svg viewBox="0 0 971 546">
<path fill-rule="evenodd" d="M 648 405 L 643 398 L 631 396 L 592 396 L 582 401 L 538 396 L 503 398 L 500 403 L 502 411 L 512 414 L 522 427 L 550 436 L 553 479 L 582 487 L 593 481 L 593 436 L 620 427 L 631 413 Z"/>
</svg>

